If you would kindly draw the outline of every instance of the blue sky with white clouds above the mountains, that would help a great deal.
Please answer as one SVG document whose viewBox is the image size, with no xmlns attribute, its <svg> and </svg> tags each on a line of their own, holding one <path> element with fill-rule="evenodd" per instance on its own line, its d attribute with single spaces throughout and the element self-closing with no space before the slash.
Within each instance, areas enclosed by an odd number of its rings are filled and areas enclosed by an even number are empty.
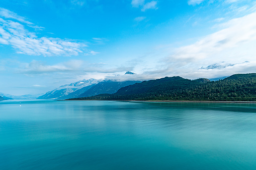
<svg viewBox="0 0 256 170">
<path fill-rule="evenodd" d="M 0 0 L 0 92 L 256 73 L 255 45 L 252 0 Z"/>
</svg>

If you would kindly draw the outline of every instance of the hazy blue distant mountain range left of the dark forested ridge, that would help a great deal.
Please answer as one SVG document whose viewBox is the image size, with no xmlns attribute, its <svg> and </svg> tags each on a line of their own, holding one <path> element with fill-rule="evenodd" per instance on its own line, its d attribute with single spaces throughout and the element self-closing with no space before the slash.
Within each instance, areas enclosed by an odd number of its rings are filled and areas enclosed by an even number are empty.
<svg viewBox="0 0 256 170">
<path fill-rule="evenodd" d="M 132 72 L 126 72 L 125 74 L 135 74 Z M 116 93 L 121 87 L 125 87 L 131 84 L 135 84 L 141 81 L 111 81 L 111 80 L 81 80 L 75 83 L 66 84 L 60 86 L 53 91 L 39 96 L 37 99 L 68 99 L 76 97 L 89 97 L 98 94 Z"/>
</svg>

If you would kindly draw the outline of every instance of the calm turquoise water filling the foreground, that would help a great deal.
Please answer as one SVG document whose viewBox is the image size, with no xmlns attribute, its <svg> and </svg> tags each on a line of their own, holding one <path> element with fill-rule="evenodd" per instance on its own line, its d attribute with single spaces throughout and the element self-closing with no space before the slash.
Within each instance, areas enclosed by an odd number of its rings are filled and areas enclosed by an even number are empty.
<svg viewBox="0 0 256 170">
<path fill-rule="evenodd" d="M 0 102 L 1 169 L 256 169 L 256 105 Z"/>
</svg>

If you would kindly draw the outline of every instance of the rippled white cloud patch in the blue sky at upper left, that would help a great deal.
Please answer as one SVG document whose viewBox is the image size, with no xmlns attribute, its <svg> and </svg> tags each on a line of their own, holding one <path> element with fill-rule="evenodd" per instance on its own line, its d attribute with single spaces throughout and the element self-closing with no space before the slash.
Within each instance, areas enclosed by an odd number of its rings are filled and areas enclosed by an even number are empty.
<svg viewBox="0 0 256 170">
<path fill-rule="evenodd" d="M 0 43 L 11 45 L 16 49 L 18 54 L 26 55 L 43 55 L 43 56 L 72 56 L 79 53 L 90 53 L 85 49 L 87 45 L 83 42 L 75 40 L 62 40 L 58 38 L 37 37 L 36 33 L 25 29 L 29 27 L 41 30 L 43 27 L 38 27 L 26 21 L 26 18 L 20 17 L 17 14 L 5 9 L 0 9 L 0 16 L 18 20 L 21 23 L 4 20 L 0 18 Z M 95 55 L 95 53 L 93 54 Z"/>
</svg>

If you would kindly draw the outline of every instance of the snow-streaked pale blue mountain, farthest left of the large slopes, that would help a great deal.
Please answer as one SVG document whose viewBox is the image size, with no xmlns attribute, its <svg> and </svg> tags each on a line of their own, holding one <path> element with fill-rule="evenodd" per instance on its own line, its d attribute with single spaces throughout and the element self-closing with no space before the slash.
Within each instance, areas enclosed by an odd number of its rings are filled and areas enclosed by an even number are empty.
<svg viewBox="0 0 256 170">
<path fill-rule="evenodd" d="M 66 99 L 67 95 L 69 95 L 72 92 L 75 92 L 83 87 L 91 86 L 94 84 L 99 83 L 102 80 L 97 79 L 89 79 L 89 80 L 80 80 L 71 84 L 66 84 L 63 86 L 60 86 L 57 89 L 54 89 L 52 91 L 49 91 L 45 93 L 42 96 L 39 96 L 37 99 Z"/>
</svg>

